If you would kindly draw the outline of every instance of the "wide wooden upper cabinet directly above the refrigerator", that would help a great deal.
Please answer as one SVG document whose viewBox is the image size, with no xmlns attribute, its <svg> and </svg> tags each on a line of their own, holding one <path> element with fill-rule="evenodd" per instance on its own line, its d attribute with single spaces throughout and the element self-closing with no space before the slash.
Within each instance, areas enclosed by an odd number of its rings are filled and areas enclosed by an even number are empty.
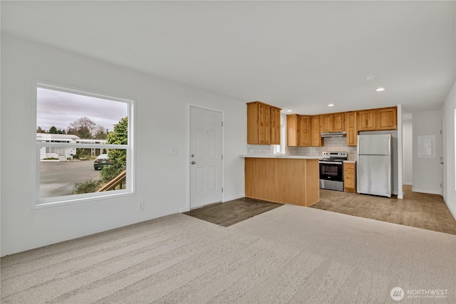
<svg viewBox="0 0 456 304">
<path fill-rule="evenodd" d="M 398 129 L 397 108 L 358 111 L 358 131 Z"/>
</svg>

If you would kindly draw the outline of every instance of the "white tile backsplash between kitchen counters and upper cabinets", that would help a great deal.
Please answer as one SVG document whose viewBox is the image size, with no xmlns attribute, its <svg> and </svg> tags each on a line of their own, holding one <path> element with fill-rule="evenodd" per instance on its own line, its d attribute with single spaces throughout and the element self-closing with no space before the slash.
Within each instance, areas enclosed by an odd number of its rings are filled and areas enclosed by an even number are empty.
<svg viewBox="0 0 456 304">
<path fill-rule="evenodd" d="M 323 151 L 348 152 L 348 160 L 356 160 L 356 147 L 348 147 L 346 137 L 326 137 L 323 147 L 286 147 L 290 155 L 321 155 Z M 272 145 L 247 145 L 247 154 L 273 154 Z"/>
</svg>

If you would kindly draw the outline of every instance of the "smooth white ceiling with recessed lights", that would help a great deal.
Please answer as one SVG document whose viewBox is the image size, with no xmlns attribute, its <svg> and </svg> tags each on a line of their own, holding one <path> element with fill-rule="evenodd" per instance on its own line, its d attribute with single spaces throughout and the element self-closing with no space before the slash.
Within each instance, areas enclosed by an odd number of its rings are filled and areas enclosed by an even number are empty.
<svg viewBox="0 0 456 304">
<path fill-rule="evenodd" d="M 450 92 L 455 12 L 455 1 L 1 1 L 1 31 L 283 112 L 407 113 L 439 110 Z"/>
</svg>

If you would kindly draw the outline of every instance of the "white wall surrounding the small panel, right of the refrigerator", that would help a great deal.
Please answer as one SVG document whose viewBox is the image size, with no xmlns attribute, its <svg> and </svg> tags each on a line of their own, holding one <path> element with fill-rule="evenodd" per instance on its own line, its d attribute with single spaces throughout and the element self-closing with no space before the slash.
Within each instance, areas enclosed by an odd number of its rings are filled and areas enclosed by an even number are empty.
<svg viewBox="0 0 456 304">
<path fill-rule="evenodd" d="M 440 138 L 440 121 L 442 112 L 426 111 L 413 113 L 413 192 L 441 194 L 440 183 L 442 171 L 440 155 L 442 154 L 442 140 Z M 433 136 L 432 157 L 419 157 L 418 138 Z"/>
</svg>

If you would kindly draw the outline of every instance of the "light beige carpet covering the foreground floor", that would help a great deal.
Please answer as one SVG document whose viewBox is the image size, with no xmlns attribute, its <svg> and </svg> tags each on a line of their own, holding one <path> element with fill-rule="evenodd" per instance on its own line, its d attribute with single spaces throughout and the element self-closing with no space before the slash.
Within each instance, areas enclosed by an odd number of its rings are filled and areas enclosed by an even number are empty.
<svg viewBox="0 0 456 304">
<path fill-rule="evenodd" d="M 172 214 L 1 258 L 1 303 L 456 303 L 456 236 L 293 205 Z"/>
</svg>

